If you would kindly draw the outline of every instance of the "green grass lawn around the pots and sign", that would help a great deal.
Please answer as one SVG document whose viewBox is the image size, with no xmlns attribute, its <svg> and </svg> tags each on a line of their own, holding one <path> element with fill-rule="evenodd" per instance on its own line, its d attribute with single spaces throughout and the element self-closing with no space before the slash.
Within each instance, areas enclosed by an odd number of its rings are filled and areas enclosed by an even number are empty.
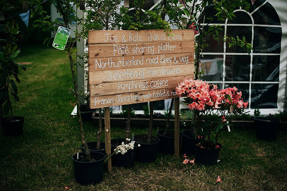
<svg viewBox="0 0 287 191">
<path fill-rule="evenodd" d="M 276 141 L 265 142 L 257 140 L 252 127 L 224 137 L 216 166 L 186 165 L 182 157 L 158 154 L 154 163 L 112 167 L 100 184 L 77 184 L 71 156 L 80 151 L 80 133 L 77 118 L 70 117 L 75 98 L 68 94 L 73 83 L 70 66 L 63 65 L 65 52 L 42 45 L 20 50 L 15 62 L 27 71 L 19 76 L 20 103 L 13 109 L 15 116 L 25 117 L 24 133 L 0 135 L 0 190 L 287 190 L 286 129 L 279 129 Z M 83 125 L 86 141 L 95 141 L 98 127 Z M 131 133 L 146 134 L 147 128 L 132 127 Z M 123 127 L 111 127 L 112 138 L 124 136 Z M 216 182 L 218 175 L 222 183 Z"/>
</svg>

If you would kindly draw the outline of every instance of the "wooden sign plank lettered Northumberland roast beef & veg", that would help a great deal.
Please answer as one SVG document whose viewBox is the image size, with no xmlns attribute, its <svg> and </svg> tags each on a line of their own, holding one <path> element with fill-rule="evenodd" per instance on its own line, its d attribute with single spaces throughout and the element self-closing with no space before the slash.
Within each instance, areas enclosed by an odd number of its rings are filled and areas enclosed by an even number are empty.
<svg viewBox="0 0 287 191">
<path fill-rule="evenodd" d="M 157 54 L 142 56 L 116 56 L 105 58 L 90 58 L 89 71 L 104 71 L 114 69 L 193 64 L 193 53 Z"/>
</svg>

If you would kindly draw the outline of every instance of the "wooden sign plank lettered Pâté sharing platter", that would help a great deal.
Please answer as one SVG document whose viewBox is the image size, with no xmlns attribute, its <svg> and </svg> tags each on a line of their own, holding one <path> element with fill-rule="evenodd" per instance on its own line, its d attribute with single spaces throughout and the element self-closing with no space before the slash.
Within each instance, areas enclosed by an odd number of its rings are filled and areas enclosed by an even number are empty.
<svg viewBox="0 0 287 191">
<path fill-rule="evenodd" d="M 124 44 L 90 44 L 89 58 L 190 53 L 194 44 L 186 42 L 147 42 Z"/>
</svg>

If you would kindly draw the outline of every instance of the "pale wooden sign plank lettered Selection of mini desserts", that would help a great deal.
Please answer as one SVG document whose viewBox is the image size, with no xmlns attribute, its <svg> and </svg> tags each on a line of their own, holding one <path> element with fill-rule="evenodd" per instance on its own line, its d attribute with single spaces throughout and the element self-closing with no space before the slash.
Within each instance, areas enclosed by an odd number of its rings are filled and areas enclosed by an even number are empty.
<svg viewBox="0 0 287 191">
<path fill-rule="evenodd" d="M 130 80 L 148 80 L 158 77 L 175 77 L 193 74 L 193 65 L 168 65 L 147 68 L 119 69 L 89 72 L 89 83 L 122 82 Z"/>
</svg>

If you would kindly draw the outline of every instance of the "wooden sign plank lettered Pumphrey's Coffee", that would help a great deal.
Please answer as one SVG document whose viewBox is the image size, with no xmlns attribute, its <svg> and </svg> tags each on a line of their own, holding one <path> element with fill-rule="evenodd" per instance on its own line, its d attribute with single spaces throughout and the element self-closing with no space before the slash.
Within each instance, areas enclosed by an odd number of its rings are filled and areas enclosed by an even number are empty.
<svg viewBox="0 0 287 191">
<path fill-rule="evenodd" d="M 193 78 L 193 75 L 180 76 L 184 79 Z M 109 94 L 123 94 L 134 91 L 155 90 L 158 88 L 175 88 L 180 80 L 178 77 L 162 77 L 149 80 L 130 80 L 123 82 L 104 82 L 90 85 L 90 96 L 102 96 Z"/>
</svg>

